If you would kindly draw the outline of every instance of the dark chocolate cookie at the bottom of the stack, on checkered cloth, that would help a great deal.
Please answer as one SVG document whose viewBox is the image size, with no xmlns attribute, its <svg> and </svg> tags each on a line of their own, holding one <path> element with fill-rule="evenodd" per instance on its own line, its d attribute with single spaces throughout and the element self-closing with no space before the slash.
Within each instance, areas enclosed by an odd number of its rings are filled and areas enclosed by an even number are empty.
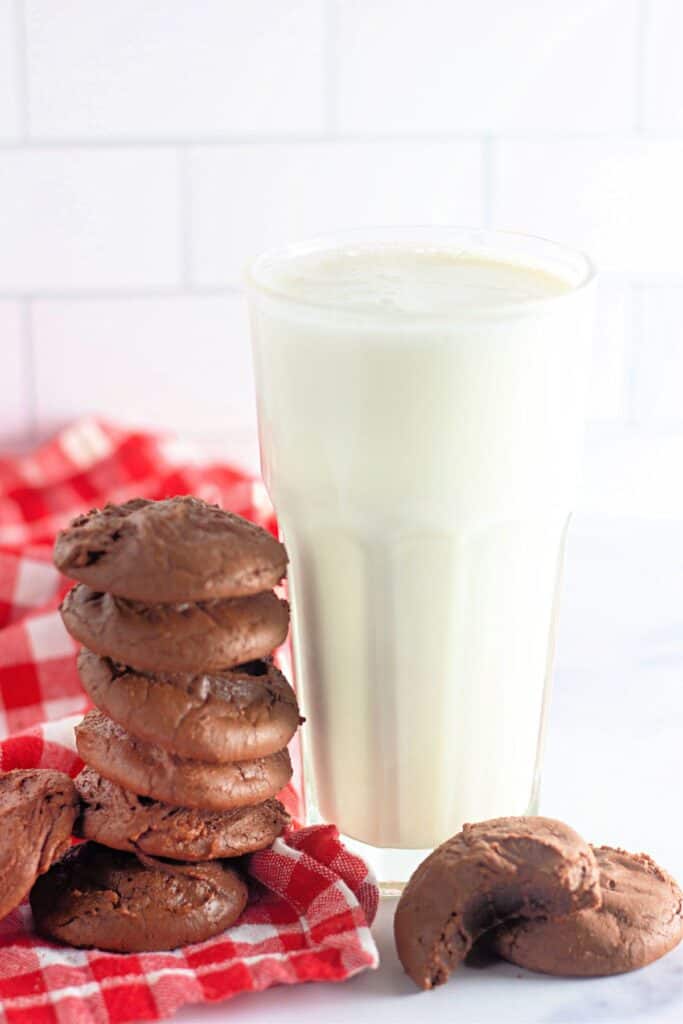
<svg viewBox="0 0 683 1024">
<path fill-rule="evenodd" d="M 82 843 L 39 879 L 31 907 L 41 935 L 134 953 L 218 935 L 247 896 L 244 879 L 220 861 L 178 864 Z"/>
</svg>

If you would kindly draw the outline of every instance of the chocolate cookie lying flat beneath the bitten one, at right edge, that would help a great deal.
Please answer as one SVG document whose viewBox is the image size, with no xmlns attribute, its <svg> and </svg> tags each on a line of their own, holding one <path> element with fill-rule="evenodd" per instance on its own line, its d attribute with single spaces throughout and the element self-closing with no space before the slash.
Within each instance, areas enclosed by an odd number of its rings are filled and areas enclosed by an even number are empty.
<svg viewBox="0 0 683 1024">
<path fill-rule="evenodd" d="M 598 977 L 635 971 L 683 939 L 683 893 L 644 853 L 602 846 L 602 906 L 561 921 L 516 921 L 486 945 L 500 956 L 544 974 Z"/>
</svg>

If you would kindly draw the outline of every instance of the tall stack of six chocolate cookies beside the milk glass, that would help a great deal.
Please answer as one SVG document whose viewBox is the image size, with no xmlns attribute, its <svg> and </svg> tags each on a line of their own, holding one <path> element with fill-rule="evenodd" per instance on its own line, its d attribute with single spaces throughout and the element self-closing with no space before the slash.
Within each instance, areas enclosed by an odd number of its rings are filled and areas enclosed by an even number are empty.
<svg viewBox="0 0 683 1024">
<path fill-rule="evenodd" d="M 39 892 L 38 923 L 72 944 L 123 951 L 209 937 L 246 901 L 222 858 L 269 846 L 288 821 L 273 798 L 291 777 L 300 719 L 270 658 L 289 628 L 272 589 L 285 549 L 198 499 L 135 499 L 76 519 L 54 559 L 79 581 L 61 615 L 84 645 L 79 673 L 97 709 L 76 729 L 86 763 L 77 833 L 92 843 L 50 872 L 70 895 L 40 903 Z M 73 895 L 84 889 L 96 907 L 85 933 Z M 125 921 L 102 896 L 112 891 Z M 167 919 L 183 918 L 178 900 L 191 913 L 169 931 Z M 141 928 L 143 904 L 163 927 Z"/>
</svg>

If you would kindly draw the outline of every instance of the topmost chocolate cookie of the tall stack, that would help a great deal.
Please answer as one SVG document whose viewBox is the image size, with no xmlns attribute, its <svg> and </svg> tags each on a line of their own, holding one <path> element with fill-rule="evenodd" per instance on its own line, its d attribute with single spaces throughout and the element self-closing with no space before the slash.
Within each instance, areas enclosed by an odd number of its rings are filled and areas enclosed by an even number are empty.
<svg viewBox="0 0 683 1024">
<path fill-rule="evenodd" d="M 79 516 L 57 536 L 57 568 L 93 590 L 147 603 L 245 597 L 283 579 L 274 537 L 198 498 L 134 498 Z"/>
</svg>

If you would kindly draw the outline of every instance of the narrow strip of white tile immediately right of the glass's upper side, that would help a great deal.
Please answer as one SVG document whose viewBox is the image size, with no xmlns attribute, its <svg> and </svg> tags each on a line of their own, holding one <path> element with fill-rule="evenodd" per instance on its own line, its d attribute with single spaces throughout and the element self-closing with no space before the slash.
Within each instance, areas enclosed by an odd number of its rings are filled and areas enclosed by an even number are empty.
<svg viewBox="0 0 683 1024">
<path fill-rule="evenodd" d="M 593 336 L 588 402 L 591 420 L 617 420 L 624 416 L 626 354 L 631 343 L 632 315 L 630 284 L 603 274 L 598 280 Z"/>
</svg>

